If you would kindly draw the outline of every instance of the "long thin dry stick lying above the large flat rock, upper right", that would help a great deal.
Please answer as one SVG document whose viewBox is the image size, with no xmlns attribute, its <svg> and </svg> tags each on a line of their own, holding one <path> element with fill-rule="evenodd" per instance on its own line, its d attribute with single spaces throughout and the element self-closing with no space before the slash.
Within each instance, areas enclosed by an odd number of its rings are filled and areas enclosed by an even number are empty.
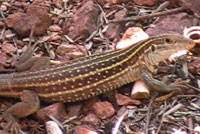
<svg viewBox="0 0 200 134">
<path fill-rule="evenodd" d="M 127 17 L 127 18 L 123 18 L 121 20 L 110 20 L 109 23 L 126 22 L 126 21 L 139 21 L 139 20 L 149 19 L 149 18 L 153 18 L 153 17 L 159 17 L 159 16 L 168 15 L 168 14 L 173 14 L 173 13 L 177 13 L 177 12 L 184 11 L 184 10 L 186 10 L 186 8 L 179 7 L 179 8 L 175 8 L 175 9 L 172 9 L 172 10 L 152 13 L 152 14 L 148 14 L 148 15 L 144 15 L 144 16 Z"/>
</svg>

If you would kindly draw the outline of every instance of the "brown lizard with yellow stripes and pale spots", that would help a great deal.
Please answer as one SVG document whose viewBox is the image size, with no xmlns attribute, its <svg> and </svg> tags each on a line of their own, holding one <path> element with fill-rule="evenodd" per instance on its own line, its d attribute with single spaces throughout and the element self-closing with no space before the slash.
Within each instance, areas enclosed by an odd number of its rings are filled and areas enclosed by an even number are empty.
<svg viewBox="0 0 200 134">
<path fill-rule="evenodd" d="M 14 121 L 36 112 L 40 100 L 64 103 L 86 100 L 136 80 L 143 80 L 159 92 L 173 91 L 182 85 L 170 86 L 154 79 L 154 66 L 194 45 L 182 35 L 164 34 L 122 50 L 78 58 L 70 64 L 0 74 L 0 96 L 22 101 L 8 108 L 5 118 Z"/>
</svg>

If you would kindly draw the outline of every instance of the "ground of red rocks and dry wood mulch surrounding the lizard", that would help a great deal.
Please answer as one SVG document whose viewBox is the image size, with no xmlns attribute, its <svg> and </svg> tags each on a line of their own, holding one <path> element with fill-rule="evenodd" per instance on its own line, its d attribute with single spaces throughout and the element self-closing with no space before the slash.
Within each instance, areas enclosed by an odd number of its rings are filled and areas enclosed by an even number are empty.
<svg viewBox="0 0 200 134">
<path fill-rule="evenodd" d="M 13 69 L 30 44 L 34 56 L 70 64 L 78 57 L 116 50 L 117 42 L 130 27 L 140 27 L 150 35 L 183 34 L 184 28 L 200 25 L 199 4 L 198 0 L 169 0 L 164 4 L 161 0 L 0 0 L 0 69 Z M 46 130 L 44 123 L 53 120 L 59 133 L 109 134 L 121 117 L 115 133 L 200 133 L 199 50 L 197 44 L 193 55 L 184 59 L 188 64 L 180 59 L 157 67 L 157 79 L 189 81 L 190 87 L 183 94 L 158 96 L 150 91 L 145 92 L 147 97 L 133 100 L 128 97 L 131 83 L 114 93 L 77 103 L 49 106 L 41 102 L 44 108 L 36 115 L 19 120 L 21 129 L 29 134 L 53 133 L 51 125 Z M 19 100 L 0 100 L 2 119 L 4 111 Z M 1 130 L 6 125 L 0 121 Z"/>
</svg>

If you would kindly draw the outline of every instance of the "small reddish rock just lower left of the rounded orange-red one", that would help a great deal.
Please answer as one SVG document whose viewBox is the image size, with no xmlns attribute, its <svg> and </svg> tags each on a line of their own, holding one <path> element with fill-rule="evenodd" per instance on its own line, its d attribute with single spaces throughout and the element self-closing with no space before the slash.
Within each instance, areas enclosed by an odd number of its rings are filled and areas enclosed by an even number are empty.
<svg viewBox="0 0 200 134">
<path fill-rule="evenodd" d="M 99 124 L 99 118 L 97 118 L 97 116 L 94 113 L 89 113 L 87 114 L 82 120 L 81 122 L 83 123 L 88 123 L 90 125 L 94 125 L 97 126 Z"/>
</svg>

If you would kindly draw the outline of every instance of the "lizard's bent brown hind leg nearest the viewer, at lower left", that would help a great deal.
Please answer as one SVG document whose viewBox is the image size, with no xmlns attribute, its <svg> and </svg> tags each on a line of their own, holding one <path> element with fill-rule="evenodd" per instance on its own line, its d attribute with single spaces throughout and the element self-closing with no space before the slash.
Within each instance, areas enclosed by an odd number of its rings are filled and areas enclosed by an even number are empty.
<svg viewBox="0 0 200 134">
<path fill-rule="evenodd" d="M 39 97 L 33 91 L 24 90 L 21 94 L 21 101 L 9 107 L 4 113 L 4 119 L 8 122 L 6 127 L 8 130 L 19 130 L 17 119 L 33 114 L 40 108 Z"/>
</svg>

